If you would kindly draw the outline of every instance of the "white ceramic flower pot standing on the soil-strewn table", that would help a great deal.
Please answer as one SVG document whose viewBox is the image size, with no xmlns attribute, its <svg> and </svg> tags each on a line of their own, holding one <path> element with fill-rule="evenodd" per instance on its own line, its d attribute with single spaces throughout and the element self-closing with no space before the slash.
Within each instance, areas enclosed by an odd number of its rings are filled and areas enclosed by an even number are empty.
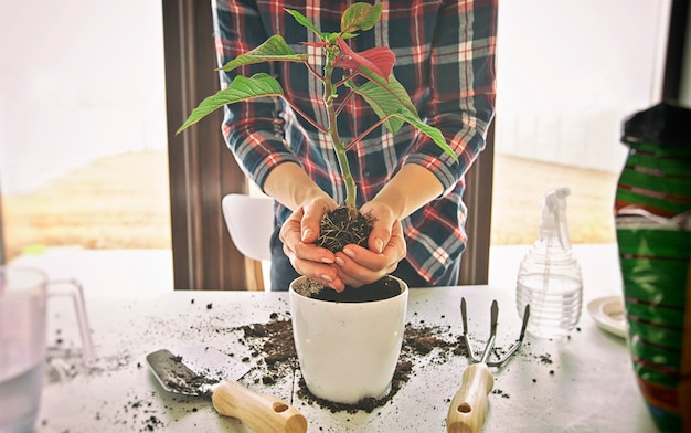
<svg viewBox="0 0 691 433">
<path fill-rule="evenodd" d="M 290 315 L 298 361 L 309 391 L 354 404 L 391 389 L 405 328 L 408 287 L 397 296 L 366 303 L 336 303 L 298 294 L 290 284 Z M 393 277 L 392 277 L 393 278 Z"/>
</svg>

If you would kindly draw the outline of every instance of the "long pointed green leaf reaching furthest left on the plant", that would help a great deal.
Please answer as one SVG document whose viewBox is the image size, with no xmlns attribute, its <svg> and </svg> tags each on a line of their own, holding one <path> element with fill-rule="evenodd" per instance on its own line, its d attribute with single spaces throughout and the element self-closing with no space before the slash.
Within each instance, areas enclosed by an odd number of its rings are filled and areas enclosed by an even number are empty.
<svg viewBox="0 0 691 433">
<path fill-rule="evenodd" d="M 226 104 L 234 104 L 263 96 L 283 97 L 283 95 L 284 92 L 278 81 L 268 74 L 259 73 L 249 78 L 238 75 L 233 78 L 230 86 L 202 101 L 199 106 L 192 110 L 190 117 L 188 117 L 176 134 L 180 134 L 189 126 L 194 125 L 206 115 Z"/>
</svg>

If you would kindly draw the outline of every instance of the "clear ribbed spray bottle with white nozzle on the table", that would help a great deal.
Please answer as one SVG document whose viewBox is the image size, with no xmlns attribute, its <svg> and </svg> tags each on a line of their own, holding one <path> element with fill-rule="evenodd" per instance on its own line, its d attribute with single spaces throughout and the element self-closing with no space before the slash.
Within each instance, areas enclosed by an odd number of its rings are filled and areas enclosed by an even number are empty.
<svg viewBox="0 0 691 433">
<path fill-rule="evenodd" d="M 538 240 L 521 261 L 517 279 L 515 306 L 523 316 L 530 305 L 528 332 L 541 338 L 562 339 L 581 318 L 583 277 L 573 257 L 566 222 L 566 197 L 561 187 L 542 200 Z"/>
</svg>

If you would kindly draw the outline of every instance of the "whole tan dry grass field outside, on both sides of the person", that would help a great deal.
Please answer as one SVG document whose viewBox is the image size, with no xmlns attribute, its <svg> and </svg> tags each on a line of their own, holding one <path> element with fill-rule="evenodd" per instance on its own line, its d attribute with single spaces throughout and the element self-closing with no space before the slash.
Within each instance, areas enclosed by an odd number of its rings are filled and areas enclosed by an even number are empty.
<svg viewBox="0 0 691 433">
<path fill-rule="evenodd" d="M 567 186 L 573 243 L 615 241 L 613 173 L 497 155 L 491 244 L 535 240 L 540 199 Z M 6 258 L 36 245 L 170 249 L 164 151 L 123 154 L 73 170 L 31 193 L 3 197 Z"/>
</svg>

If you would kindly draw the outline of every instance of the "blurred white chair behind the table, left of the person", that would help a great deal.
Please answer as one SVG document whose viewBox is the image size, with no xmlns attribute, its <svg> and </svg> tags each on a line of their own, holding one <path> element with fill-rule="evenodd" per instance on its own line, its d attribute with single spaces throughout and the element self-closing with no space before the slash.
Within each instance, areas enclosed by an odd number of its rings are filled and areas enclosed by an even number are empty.
<svg viewBox="0 0 691 433">
<path fill-rule="evenodd" d="M 262 272 L 255 275 L 258 289 L 269 289 L 264 284 L 266 270 L 272 260 L 270 237 L 274 232 L 274 200 L 269 197 L 253 197 L 231 193 L 221 201 L 225 225 L 233 243 L 244 256 L 261 262 Z M 256 268 L 256 266 L 255 266 Z"/>
</svg>

